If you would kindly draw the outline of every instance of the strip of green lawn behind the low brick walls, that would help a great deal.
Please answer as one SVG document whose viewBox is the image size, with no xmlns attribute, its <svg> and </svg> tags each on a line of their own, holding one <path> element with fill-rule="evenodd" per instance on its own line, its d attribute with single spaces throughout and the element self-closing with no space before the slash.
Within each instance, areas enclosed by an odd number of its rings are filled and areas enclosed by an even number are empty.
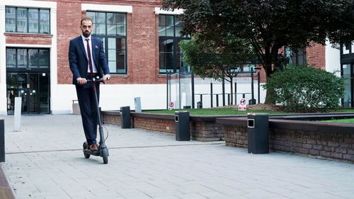
<svg viewBox="0 0 354 199">
<path fill-rule="evenodd" d="M 236 108 L 196 108 L 196 109 L 174 109 L 174 110 L 146 110 L 144 113 L 169 113 L 174 114 L 175 111 L 188 110 L 190 115 L 247 115 L 247 113 L 268 113 L 268 114 L 287 114 L 282 111 L 269 110 L 238 110 Z M 354 112 L 353 109 L 338 109 L 333 112 Z"/>
</svg>

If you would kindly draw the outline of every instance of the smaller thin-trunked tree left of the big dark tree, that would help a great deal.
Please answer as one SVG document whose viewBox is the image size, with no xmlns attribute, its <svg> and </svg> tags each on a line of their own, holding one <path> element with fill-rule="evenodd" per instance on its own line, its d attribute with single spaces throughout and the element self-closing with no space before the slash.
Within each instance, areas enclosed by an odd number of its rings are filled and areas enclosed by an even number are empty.
<svg viewBox="0 0 354 199">
<path fill-rule="evenodd" d="M 202 79 L 229 81 L 232 103 L 233 78 L 244 64 L 251 62 L 253 53 L 243 40 L 223 38 L 223 43 L 221 47 L 214 47 L 212 42 L 198 42 L 198 35 L 195 35 L 192 40 L 181 41 L 179 45 L 183 52 L 183 62 L 192 67 L 194 74 Z"/>
</svg>

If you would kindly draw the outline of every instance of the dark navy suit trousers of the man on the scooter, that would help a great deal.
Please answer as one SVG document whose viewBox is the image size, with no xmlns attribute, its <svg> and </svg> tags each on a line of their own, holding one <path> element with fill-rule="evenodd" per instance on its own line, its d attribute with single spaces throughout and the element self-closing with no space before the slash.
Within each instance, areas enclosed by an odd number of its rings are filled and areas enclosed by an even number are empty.
<svg viewBox="0 0 354 199">
<path fill-rule="evenodd" d="M 86 141 L 89 145 L 96 144 L 97 137 L 97 106 L 93 86 L 96 86 L 97 100 L 100 98 L 100 84 L 76 84 L 76 94 L 79 100 L 82 125 Z"/>
</svg>

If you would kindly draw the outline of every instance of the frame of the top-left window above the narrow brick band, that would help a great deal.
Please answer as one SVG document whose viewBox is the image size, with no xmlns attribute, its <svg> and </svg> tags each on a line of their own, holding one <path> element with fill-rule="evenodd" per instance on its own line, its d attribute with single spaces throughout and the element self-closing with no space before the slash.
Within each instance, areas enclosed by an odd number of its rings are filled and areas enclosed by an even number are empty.
<svg viewBox="0 0 354 199">
<path fill-rule="evenodd" d="M 15 31 L 14 32 L 8 32 L 6 31 L 6 8 L 15 8 Z M 26 28 L 26 32 L 18 32 L 18 8 L 25 8 L 27 13 L 26 13 L 26 23 L 27 23 L 27 28 Z M 29 18 L 29 10 L 30 9 L 36 9 L 38 11 L 38 32 L 35 33 L 30 33 L 30 18 Z M 41 10 L 45 10 L 48 11 L 48 33 L 40 33 L 40 11 Z M 5 7 L 5 33 L 20 33 L 20 34 L 36 34 L 36 35 L 50 35 L 50 8 L 32 8 L 32 7 L 20 7 L 20 6 L 6 6 Z"/>
</svg>

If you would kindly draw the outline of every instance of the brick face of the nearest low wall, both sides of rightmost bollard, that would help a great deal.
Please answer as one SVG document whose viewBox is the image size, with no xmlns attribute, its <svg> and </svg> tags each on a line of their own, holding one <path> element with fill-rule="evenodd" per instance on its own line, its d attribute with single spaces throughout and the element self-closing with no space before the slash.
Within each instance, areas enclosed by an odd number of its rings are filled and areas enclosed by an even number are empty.
<svg viewBox="0 0 354 199">
<path fill-rule="evenodd" d="M 228 146 L 247 147 L 247 127 L 225 125 Z M 269 148 L 321 159 L 354 162 L 354 134 L 313 132 L 307 130 L 270 130 Z"/>
</svg>

